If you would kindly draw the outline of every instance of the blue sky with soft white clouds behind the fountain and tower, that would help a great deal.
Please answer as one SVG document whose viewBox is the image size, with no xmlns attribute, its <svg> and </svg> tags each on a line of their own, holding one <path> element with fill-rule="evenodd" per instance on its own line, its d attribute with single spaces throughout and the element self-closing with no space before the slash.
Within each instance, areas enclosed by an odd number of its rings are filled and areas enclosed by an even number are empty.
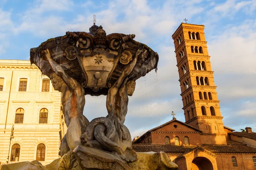
<svg viewBox="0 0 256 170">
<path fill-rule="evenodd" d="M 256 0 L 0 0 L 0 59 L 29 60 L 30 48 L 66 31 L 102 26 L 135 34 L 159 54 L 158 71 L 136 81 L 125 125 L 132 138 L 184 122 L 172 34 L 184 18 L 203 24 L 224 126 L 256 131 Z M 84 115 L 106 116 L 106 96 L 85 96 Z"/>
</svg>

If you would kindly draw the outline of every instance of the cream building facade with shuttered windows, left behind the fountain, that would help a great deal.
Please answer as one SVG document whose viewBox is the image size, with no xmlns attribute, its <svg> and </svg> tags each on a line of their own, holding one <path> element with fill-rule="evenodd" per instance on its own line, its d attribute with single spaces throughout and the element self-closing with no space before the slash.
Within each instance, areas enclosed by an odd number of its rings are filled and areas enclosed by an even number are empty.
<svg viewBox="0 0 256 170">
<path fill-rule="evenodd" d="M 14 125 L 14 138 L 11 129 Z M 57 159 L 67 129 L 61 93 L 28 60 L 0 60 L 0 162 Z M 10 150 L 9 150 L 10 144 Z"/>
</svg>

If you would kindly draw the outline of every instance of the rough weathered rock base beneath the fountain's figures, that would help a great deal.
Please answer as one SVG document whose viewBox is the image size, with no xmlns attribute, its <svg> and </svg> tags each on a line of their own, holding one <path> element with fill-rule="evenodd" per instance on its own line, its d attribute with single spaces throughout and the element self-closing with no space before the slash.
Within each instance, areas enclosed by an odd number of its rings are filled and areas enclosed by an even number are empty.
<svg viewBox="0 0 256 170">
<path fill-rule="evenodd" d="M 61 159 L 42 166 L 25 161 L 5 164 L 1 170 L 178 170 L 166 153 L 137 153 L 138 161 L 126 163 L 119 155 L 79 145 Z"/>
</svg>

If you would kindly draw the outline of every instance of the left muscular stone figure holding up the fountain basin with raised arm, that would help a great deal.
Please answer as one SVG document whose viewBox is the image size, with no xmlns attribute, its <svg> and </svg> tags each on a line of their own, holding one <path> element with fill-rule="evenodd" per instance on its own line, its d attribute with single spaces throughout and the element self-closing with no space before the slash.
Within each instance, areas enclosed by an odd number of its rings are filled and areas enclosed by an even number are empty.
<svg viewBox="0 0 256 170">
<path fill-rule="evenodd" d="M 73 150 L 81 144 L 80 136 L 84 133 L 84 128 L 89 124 L 88 119 L 83 115 L 85 104 L 84 88 L 75 79 L 69 77 L 64 69 L 52 59 L 49 49 L 44 50 L 43 54 L 53 71 L 50 75 L 52 86 L 54 90 L 62 93 L 61 102 L 67 125 L 67 144 Z"/>
</svg>

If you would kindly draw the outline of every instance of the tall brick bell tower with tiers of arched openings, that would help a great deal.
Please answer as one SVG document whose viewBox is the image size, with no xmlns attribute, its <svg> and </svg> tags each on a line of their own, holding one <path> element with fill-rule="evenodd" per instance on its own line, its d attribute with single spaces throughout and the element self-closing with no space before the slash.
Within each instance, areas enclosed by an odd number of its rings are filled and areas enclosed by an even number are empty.
<svg viewBox="0 0 256 170">
<path fill-rule="evenodd" d="M 172 39 L 186 124 L 202 131 L 202 144 L 227 144 L 204 25 L 181 23 Z"/>
</svg>

